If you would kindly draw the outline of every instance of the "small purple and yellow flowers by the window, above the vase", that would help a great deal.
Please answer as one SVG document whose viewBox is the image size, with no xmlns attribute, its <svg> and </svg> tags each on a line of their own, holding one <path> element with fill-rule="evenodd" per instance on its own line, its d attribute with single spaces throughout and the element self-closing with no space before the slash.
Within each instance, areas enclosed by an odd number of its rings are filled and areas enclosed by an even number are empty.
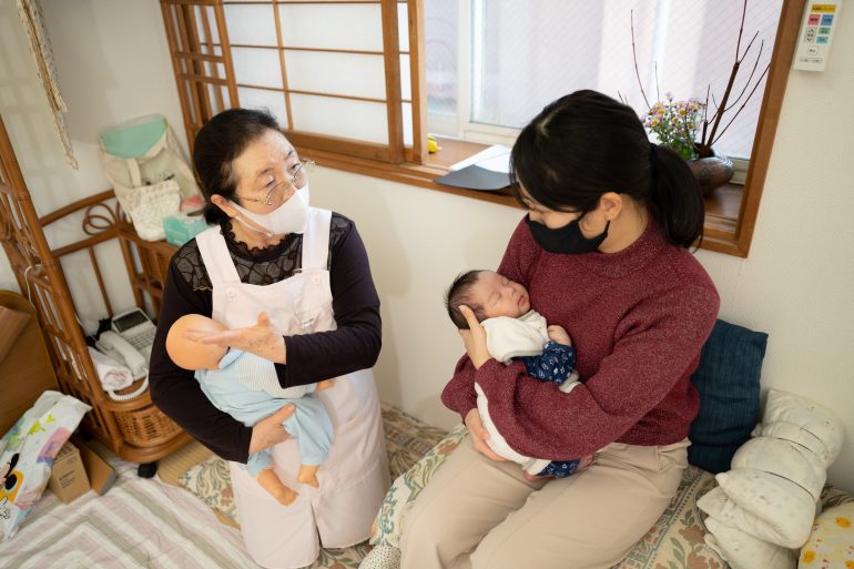
<svg viewBox="0 0 854 569">
<path fill-rule="evenodd" d="M 694 142 L 700 132 L 705 105 L 697 99 L 674 101 L 672 93 L 667 93 L 663 101 L 650 106 L 641 116 L 643 126 L 655 135 L 659 144 L 669 146 L 684 160 L 697 158 Z"/>
</svg>

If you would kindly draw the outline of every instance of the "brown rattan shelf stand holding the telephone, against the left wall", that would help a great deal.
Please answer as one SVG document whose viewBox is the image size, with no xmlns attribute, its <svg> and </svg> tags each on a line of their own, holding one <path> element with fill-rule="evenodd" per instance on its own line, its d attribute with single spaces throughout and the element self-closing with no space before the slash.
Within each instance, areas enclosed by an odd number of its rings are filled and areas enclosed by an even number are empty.
<svg viewBox="0 0 854 569">
<path fill-rule="evenodd" d="M 9 257 L 18 286 L 33 303 L 59 388 L 92 407 L 82 423 L 90 435 L 125 460 L 153 463 L 179 449 L 191 437 L 154 407 L 148 392 L 129 400 L 112 400 L 106 396 L 79 324 L 62 260 L 81 253 L 73 262 L 69 258 L 68 266 L 73 265 L 75 275 L 85 274 L 94 281 L 92 291 L 101 293 L 104 314 L 115 314 L 114 308 L 126 306 L 124 296 L 130 292 L 138 307 L 155 315 L 160 311 L 163 282 L 175 247 L 165 242 L 141 240 L 124 220 L 112 190 L 39 216 L 10 144 L 0 118 L 0 195 L 3 196 L 0 200 L 0 245 Z M 10 156 L 11 160 L 7 160 Z M 44 227 L 60 220 L 69 223 L 81 216 L 84 236 L 51 248 Z M 121 266 L 120 260 L 124 262 L 128 286 L 122 289 L 121 304 L 113 304 L 114 298 L 110 298 L 108 280 L 95 251 L 102 245 L 112 247 L 109 257 L 104 257 L 109 258 L 111 272 Z M 116 245 L 118 255 L 114 253 Z M 89 263 L 84 261 L 85 253 Z M 116 289 L 121 287 L 116 286 Z M 91 302 L 92 298 L 85 298 L 87 306 Z M 131 392 L 133 388 L 135 386 Z"/>
</svg>

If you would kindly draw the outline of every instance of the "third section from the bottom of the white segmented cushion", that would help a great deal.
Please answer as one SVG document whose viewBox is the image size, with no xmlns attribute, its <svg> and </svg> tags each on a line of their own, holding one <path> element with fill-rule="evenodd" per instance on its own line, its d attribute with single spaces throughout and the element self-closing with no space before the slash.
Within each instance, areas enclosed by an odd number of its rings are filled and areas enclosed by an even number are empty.
<svg viewBox="0 0 854 569">
<path fill-rule="evenodd" d="M 744 443 L 732 457 L 732 469 L 754 468 L 782 476 L 819 500 L 827 474 L 810 449 L 777 438 L 759 437 Z"/>
</svg>

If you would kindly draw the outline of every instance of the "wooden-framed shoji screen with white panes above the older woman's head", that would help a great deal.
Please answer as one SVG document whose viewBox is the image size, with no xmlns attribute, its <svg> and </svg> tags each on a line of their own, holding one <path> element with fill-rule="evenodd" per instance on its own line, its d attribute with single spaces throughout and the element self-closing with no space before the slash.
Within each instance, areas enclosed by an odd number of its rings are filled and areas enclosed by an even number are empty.
<svg viewBox="0 0 854 569">
<path fill-rule="evenodd" d="M 201 110 L 187 121 L 203 123 L 216 106 L 196 101 L 197 91 L 224 87 L 234 106 L 270 110 L 297 146 L 385 162 L 420 156 L 424 120 L 413 93 L 423 89 L 423 58 L 410 49 L 419 45 L 419 3 L 162 0 L 167 30 L 176 28 L 170 44 L 185 114 Z"/>
</svg>

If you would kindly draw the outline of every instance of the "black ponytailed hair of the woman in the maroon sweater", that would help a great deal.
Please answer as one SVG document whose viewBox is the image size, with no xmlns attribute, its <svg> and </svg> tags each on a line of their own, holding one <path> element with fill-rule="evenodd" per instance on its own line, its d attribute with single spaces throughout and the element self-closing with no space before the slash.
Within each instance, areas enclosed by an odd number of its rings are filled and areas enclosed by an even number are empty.
<svg viewBox="0 0 854 569">
<path fill-rule="evenodd" d="M 703 232 L 700 186 L 682 158 L 651 144 L 634 110 L 596 91 L 546 106 L 510 154 L 510 180 L 550 210 L 587 213 L 606 192 L 644 204 L 668 240 L 690 247 Z"/>
</svg>

